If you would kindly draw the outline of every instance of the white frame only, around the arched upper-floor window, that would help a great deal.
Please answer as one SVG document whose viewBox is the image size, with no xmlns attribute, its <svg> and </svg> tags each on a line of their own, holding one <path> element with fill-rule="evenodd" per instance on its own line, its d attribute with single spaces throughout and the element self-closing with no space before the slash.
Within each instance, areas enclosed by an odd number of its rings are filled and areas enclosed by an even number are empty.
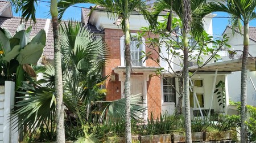
<svg viewBox="0 0 256 143">
<path fill-rule="evenodd" d="M 137 33 L 130 33 L 131 37 L 136 36 Z M 145 51 L 145 39 L 142 37 L 142 51 Z M 121 57 L 121 66 L 125 66 L 125 36 L 123 35 L 120 38 L 120 57 Z M 142 58 L 141 60 L 144 61 L 145 58 Z M 146 67 L 146 62 L 142 62 L 142 66 Z M 133 67 L 141 67 L 141 66 L 133 66 Z"/>
</svg>

